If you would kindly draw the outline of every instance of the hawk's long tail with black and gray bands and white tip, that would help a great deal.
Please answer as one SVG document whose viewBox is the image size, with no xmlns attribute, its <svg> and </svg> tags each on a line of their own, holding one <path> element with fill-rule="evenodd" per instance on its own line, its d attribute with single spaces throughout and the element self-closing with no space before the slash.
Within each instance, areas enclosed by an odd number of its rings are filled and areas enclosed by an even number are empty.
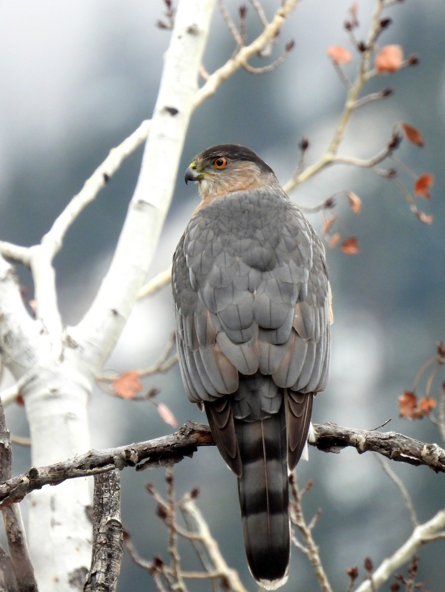
<svg viewBox="0 0 445 592">
<path fill-rule="evenodd" d="M 275 590 L 287 580 L 290 556 L 284 404 L 266 419 L 235 420 L 235 432 L 243 466 L 238 493 L 249 569 L 259 584 Z"/>
</svg>

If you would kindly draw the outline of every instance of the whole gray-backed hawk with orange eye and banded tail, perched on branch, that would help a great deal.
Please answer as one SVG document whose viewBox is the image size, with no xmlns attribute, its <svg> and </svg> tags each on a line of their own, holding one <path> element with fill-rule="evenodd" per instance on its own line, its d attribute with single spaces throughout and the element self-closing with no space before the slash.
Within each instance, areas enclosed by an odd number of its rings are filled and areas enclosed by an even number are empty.
<svg viewBox="0 0 445 592">
<path fill-rule="evenodd" d="M 273 170 L 237 144 L 195 157 L 202 198 L 173 258 L 181 374 L 238 477 L 255 580 L 274 590 L 290 555 L 288 470 L 329 371 L 324 248 Z"/>
</svg>

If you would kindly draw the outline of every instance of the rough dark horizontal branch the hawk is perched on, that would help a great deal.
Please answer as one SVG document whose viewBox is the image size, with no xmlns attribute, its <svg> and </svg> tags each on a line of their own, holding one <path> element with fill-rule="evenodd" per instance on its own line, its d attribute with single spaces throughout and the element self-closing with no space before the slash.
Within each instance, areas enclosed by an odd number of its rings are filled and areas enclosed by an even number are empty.
<svg viewBox="0 0 445 592">
<path fill-rule="evenodd" d="M 393 461 L 429 466 L 435 472 L 445 472 L 445 450 L 437 444 L 420 442 L 396 432 L 358 430 L 335 423 L 314 424 L 313 427 L 316 442 L 312 445 L 324 452 L 340 452 L 342 448 L 352 446 L 359 454 L 377 452 Z M 124 466 L 136 466 L 136 470 L 165 466 L 193 455 L 199 446 L 213 445 L 209 426 L 194 423 L 147 442 L 91 450 L 67 461 L 33 467 L 0 484 L 0 508 L 22 500 L 43 485 L 57 485 L 67 479 L 97 475 Z"/>
</svg>

